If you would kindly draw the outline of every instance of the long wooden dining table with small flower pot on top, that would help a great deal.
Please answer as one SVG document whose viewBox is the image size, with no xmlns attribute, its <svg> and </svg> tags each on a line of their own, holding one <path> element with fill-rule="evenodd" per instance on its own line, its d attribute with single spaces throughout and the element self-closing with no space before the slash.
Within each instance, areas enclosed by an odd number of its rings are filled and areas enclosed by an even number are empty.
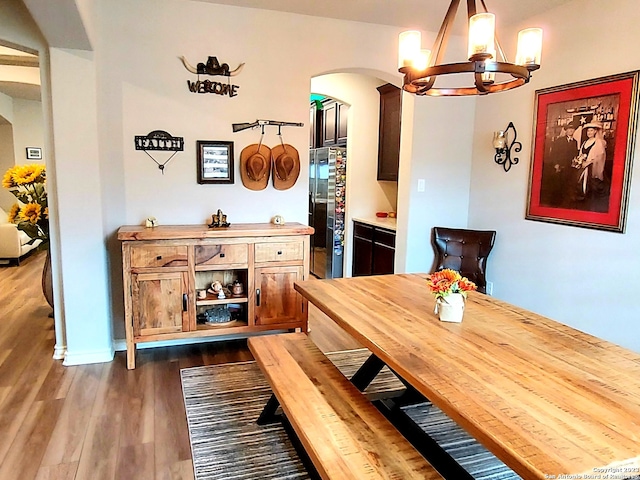
<svg viewBox="0 0 640 480">
<path fill-rule="evenodd" d="M 295 289 L 521 477 L 640 475 L 638 353 L 477 292 L 442 322 L 425 278 Z"/>
</svg>

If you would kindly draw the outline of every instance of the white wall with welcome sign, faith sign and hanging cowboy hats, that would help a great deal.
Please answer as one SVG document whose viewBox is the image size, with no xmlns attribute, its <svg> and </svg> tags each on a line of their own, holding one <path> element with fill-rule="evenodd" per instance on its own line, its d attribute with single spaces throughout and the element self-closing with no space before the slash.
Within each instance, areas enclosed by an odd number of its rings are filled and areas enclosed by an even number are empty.
<svg viewBox="0 0 640 480">
<path fill-rule="evenodd" d="M 311 78 L 349 69 L 379 72 L 381 78 L 388 77 L 386 80 L 398 77 L 395 51 L 399 29 L 176 0 L 100 1 L 98 12 L 92 20 L 96 31 L 90 36 L 95 46 L 99 191 L 112 329 L 114 338 L 121 339 L 122 270 L 117 229 L 140 224 L 149 215 L 161 224 L 203 224 L 218 208 L 232 223 L 268 222 L 280 214 L 287 221 L 306 224 Z M 278 28 L 265 27 L 275 25 Z M 187 80 L 196 80 L 196 75 L 184 68 L 179 60 L 182 55 L 192 64 L 217 56 L 232 69 L 244 62 L 242 73 L 229 79 L 239 85 L 238 95 L 191 93 Z M 71 71 L 70 76 L 74 73 L 78 72 Z M 83 78 L 90 79 L 87 75 Z M 378 93 L 373 93 L 377 106 Z M 241 183 L 240 152 L 257 143 L 259 132 L 233 133 L 231 124 L 257 118 L 305 123 L 306 128 L 283 129 L 284 140 L 297 147 L 302 163 L 298 182 L 289 190 L 277 191 L 270 184 L 255 192 Z M 376 114 L 371 120 L 376 125 L 377 118 Z M 184 151 L 169 162 L 164 175 L 144 152 L 134 148 L 135 135 L 158 129 L 185 140 Z M 276 133 L 276 129 L 267 128 L 264 143 L 276 145 Z M 60 141 L 69 138 L 56 135 Z M 197 140 L 234 142 L 235 184 L 197 184 Z M 375 149 L 374 159 L 377 144 Z M 68 173 L 77 181 L 77 170 L 69 169 Z M 80 198 L 72 192 L 60 193 L 68 197 L 68 203 Z M 381 205 L 385 201 L 383 195 Z M 83 246 L 93 243 L 82 241 Z M 82 308 L 84 312 L 80 289 L 90 287 L 77 288 L 78 298 L 71 303 L 67 295 L 65 304 L 67 310 Z"/>
</svg>

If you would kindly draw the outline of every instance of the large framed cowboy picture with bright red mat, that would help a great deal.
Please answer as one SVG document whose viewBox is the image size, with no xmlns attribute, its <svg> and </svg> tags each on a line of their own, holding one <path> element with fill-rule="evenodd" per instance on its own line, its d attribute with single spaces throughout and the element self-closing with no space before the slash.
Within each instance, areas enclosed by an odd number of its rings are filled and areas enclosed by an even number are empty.
<svg viewBox="0 0 640 480">
<path fill-rule="evenodd" d="M 638 74 L 536 90 L 526 219 L 624 232 Z"/>
</svg>

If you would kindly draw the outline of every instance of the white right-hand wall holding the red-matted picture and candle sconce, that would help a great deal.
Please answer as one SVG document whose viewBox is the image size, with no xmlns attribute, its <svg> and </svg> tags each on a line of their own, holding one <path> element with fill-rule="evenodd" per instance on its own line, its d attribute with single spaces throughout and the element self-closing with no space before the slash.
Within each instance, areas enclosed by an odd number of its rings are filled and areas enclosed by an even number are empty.
<svg viewBox="0 0 640 480">
<path fill-rule="evenodd" d="M 498 232 L 488 267 L 496 297 L 640 351 L 640 146 L 625 234 L 524 220 L 535 89 L 638 69 L 637 9 L 633 0 L 576 0 L 526 22 L 545 29 L 542 68 L 528 86 L 478 101 L 469 226 Z M 586 34 L 585 25 L 595 28 Z M 516 31 L 501 38 L 515 42 Z M 509 121 L 523 151 L 504 173 L 491 138 Z"/>
</svg>

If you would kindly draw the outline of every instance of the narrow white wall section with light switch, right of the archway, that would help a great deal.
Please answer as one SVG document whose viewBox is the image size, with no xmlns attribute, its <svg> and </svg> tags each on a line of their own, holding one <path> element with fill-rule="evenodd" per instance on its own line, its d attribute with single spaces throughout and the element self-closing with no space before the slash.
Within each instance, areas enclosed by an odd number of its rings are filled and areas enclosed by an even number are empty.
<svg viewBox="0 0 640 480">
<path fill-rule="evenodd" d="M 445 61 L 465 58 L 465 42 L 452 36 Z M 461 82 L 455 76 L 442 81 L 436 86 Z M 467 224 L 475 104 L 475 97 L 402 96 L 396 273 L 431 271 L 432 228 Z"/>
</svg>

